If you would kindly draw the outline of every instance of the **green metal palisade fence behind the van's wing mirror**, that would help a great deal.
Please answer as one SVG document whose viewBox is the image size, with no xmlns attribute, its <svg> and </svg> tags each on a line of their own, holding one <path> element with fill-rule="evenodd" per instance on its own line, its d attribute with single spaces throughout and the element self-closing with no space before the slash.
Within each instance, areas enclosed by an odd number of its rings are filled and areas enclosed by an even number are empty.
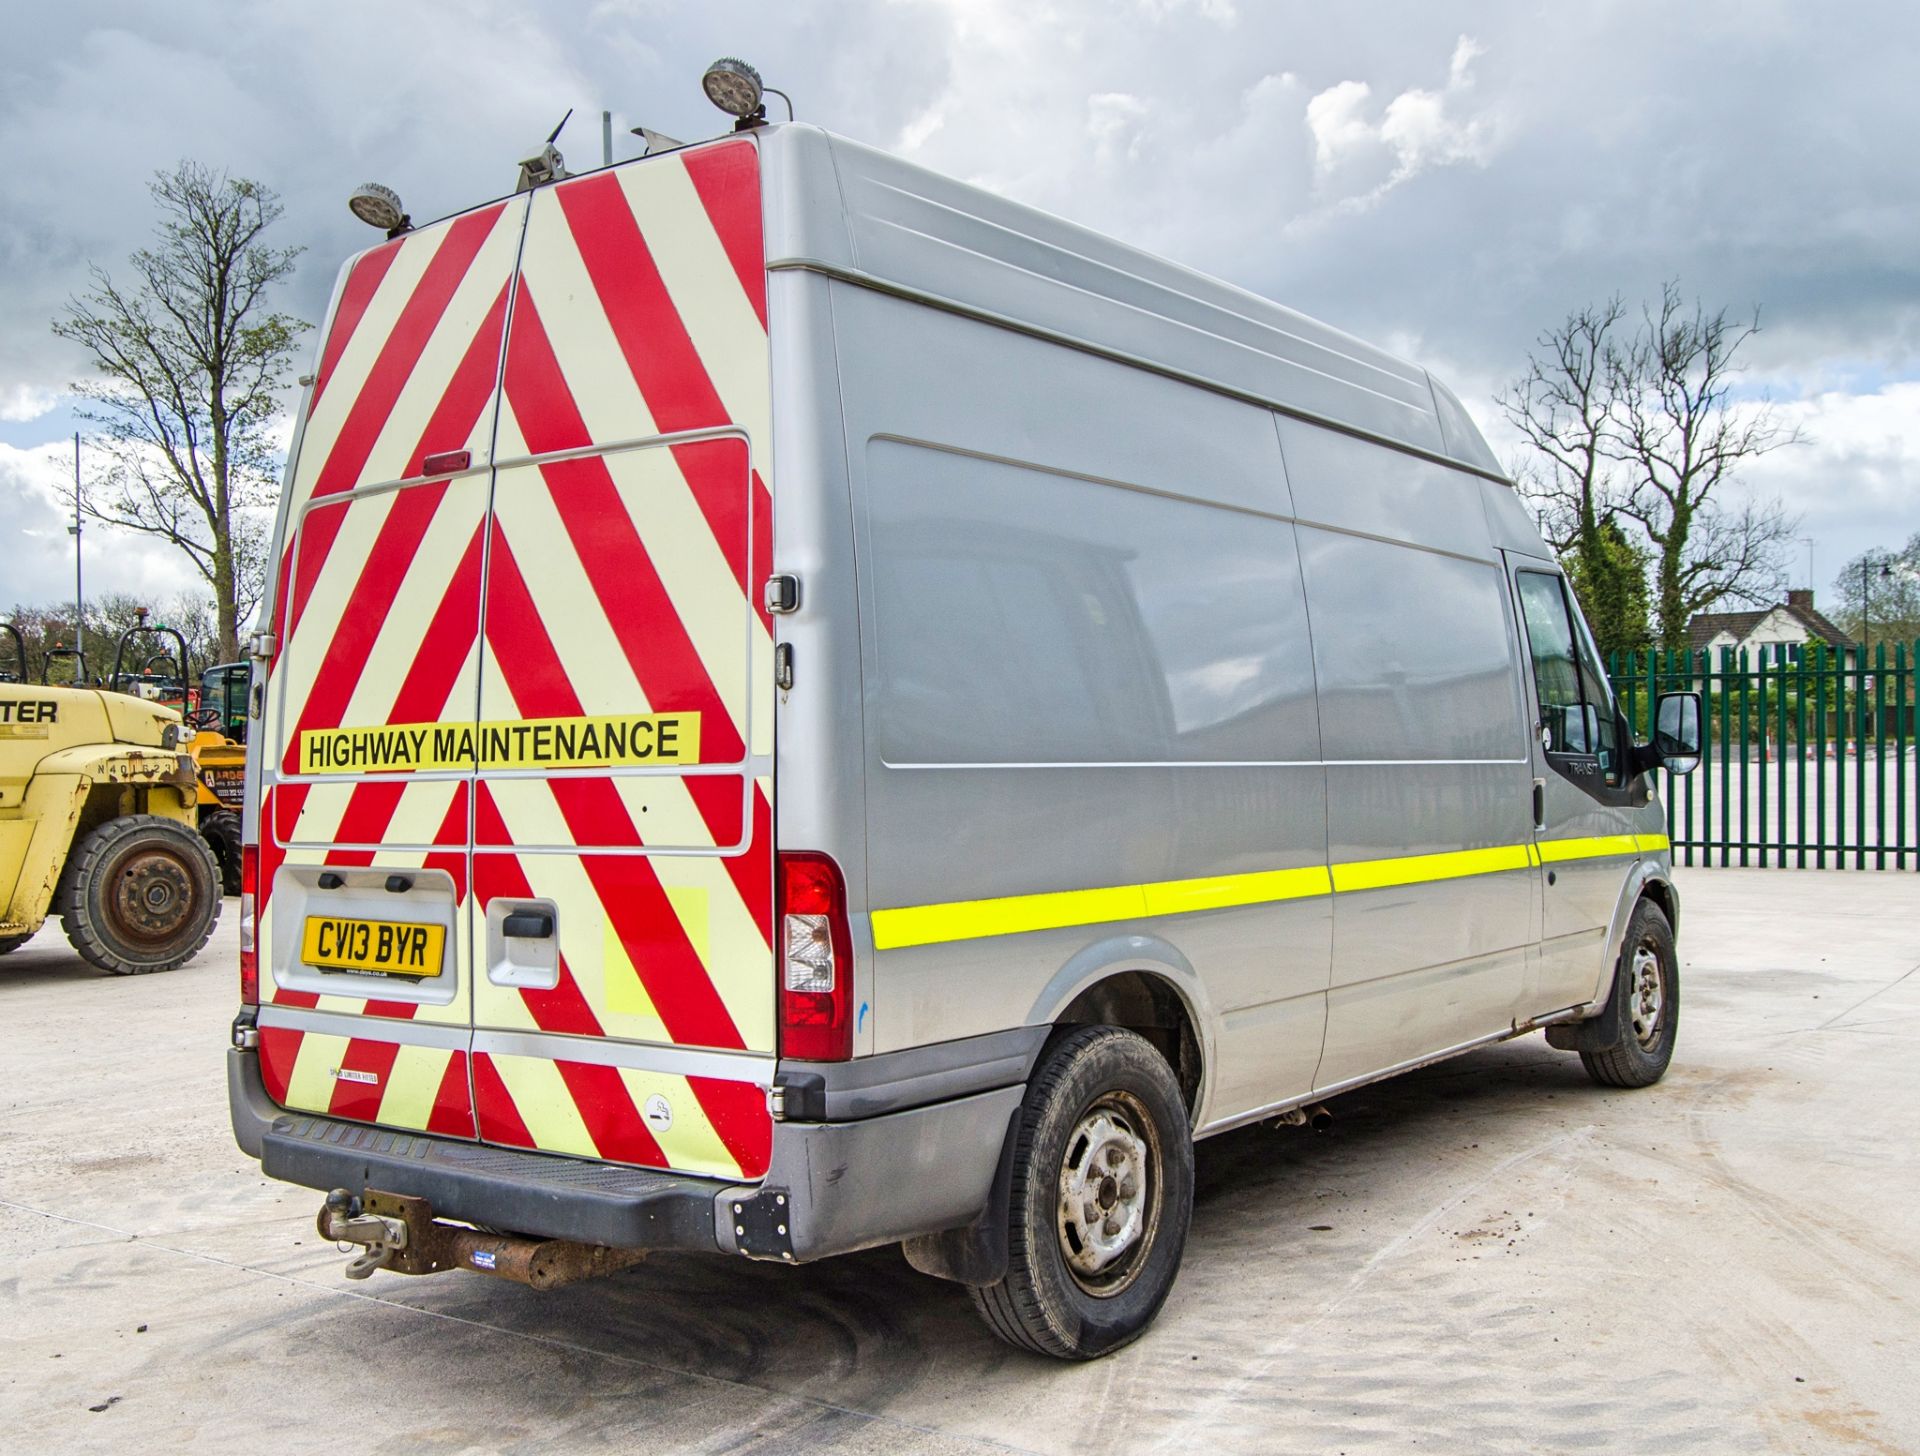
<svg viewBox="0 0 1920 1456">
<path fill-rule="evenodd" d="M 1607 667 L 1640 736 L 1655 695 L 1701 693 L 1699 768 L 1657 776 L 1678 862 L 1920 870 L 1920 643 L 1615 653 Z"/>
</svg>

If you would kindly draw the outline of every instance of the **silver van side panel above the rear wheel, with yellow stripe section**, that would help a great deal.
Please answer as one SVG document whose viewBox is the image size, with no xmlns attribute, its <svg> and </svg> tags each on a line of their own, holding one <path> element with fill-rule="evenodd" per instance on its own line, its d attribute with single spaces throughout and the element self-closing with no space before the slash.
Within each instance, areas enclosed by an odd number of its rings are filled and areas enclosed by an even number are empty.
<svg viewBox="0 0 1920 1456">
<path fill-rule="evenodd" d="M 1148 970 L 1217 1043 L 1204 1116 L 1304 1093 L 1325 776 L 1267 411 L 874 292 L 833 302 L 876 1049 L 1044 1022 Z"/>
</svg>

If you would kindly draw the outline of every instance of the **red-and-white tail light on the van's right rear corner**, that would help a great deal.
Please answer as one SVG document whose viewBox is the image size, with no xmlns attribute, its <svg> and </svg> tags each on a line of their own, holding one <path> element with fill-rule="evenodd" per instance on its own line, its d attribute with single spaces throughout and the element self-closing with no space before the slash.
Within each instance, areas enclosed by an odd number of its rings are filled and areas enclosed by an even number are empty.
<svg viewBox="0 0 1920 1456">
<path fill-rule="evenodd" d="M 780 1055 L 852 1055 L 852 937 L 847 884 L 826 855 L 780 857 Z"/>
</svg>

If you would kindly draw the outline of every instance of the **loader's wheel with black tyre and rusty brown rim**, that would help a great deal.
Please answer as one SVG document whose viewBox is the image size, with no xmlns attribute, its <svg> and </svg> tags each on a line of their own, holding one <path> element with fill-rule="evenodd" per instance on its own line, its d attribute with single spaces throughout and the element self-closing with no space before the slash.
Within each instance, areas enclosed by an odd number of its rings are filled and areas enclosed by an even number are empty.
<svg viewBox="0 0 1920 1456">
<path fill-rule="evenodd" d="M 60 914 L 81 957 L 111 976 L 184 966 L 221 916 L 221 870 L 186 824 L 127 814 L 73 849 Z"/>
</svg>

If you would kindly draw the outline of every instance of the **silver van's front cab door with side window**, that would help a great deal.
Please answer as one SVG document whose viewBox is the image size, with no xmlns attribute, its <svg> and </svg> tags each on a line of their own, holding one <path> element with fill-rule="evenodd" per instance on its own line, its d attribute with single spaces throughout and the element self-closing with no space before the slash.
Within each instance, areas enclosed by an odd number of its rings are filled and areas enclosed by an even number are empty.
<svg viewBox="0 0 1920 1456">
<path fill-rule="evenodd" d="M 1532 557 L 1509 555 L 1509 567 L 1534 713 L 1542 945 L 1528 1010 L 1542 1014 L 1596 993 L 1607 930 L 1638 859 L 1626 811 L 1645 791 L 1632 778 L 1632 740 L 1565 576 Z"/>
</svg>

